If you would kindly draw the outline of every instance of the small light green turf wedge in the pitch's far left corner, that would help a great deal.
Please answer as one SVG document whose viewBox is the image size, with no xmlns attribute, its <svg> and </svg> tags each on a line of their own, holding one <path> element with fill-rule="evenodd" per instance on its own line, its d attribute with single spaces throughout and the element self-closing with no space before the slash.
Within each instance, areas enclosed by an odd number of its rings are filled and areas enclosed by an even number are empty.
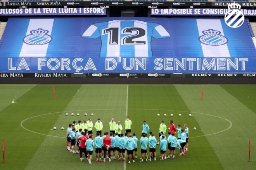
<svg viewBox="0 0 256 170">
<path fill-rule="evenodd" d="M 12 100 L 17 101 L 34 86 L 34 84 L 28 84 L 27 86 L 17 86 L 18 88 L 14 88 L 10 84 L 0 84 L 0 111 L 11 105 Z"/>
</svg>

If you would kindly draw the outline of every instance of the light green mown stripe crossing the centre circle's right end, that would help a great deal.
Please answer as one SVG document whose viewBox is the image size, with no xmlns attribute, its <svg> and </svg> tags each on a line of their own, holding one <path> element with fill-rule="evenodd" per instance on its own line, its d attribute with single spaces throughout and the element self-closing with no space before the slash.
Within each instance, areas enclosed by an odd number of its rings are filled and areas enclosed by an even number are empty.
<svg viewBox="0 0 256 170">
<path fill-rule="evenodd" d="M 238 98 L 241 98 L 244 103 L 248 102 L 249 107 L 252 107 L 252 104 L 250 104 L 251 101 L 244 99 L 247 95 L 253 99 L 255 98 L 254 86 L 225 87 L 230 93 L 218 85 L 205 86 L 204 99 L 202 101 L 200 100 L 202 86 L 175 85 L 175 87 L 191 112 L 216 115 L 227 118 L 232 122 L 233 126 L 228 131 L 206 137 L 211 147 L 214 148 L 214 152 L 218 156 L 221 165 L 227 170 L 255 169 L 255 159 L 248 163 L 248 144 L 249 136 L 251 136 L 252 141 L 256 141 L 255 132 L 253 131 L 256 114 L 251 111 L 252 108 L 250 110 L 230 94 L 241 91 Z M 225 122 L 221 122 L 221 120 L 213 120 L 211 118 L 201 117 L 200 115 L 194 115 L 194 117 L 199 122 L 205 134 L 225 129 L 228 126 Z M 252 157 L 256 157 L 254 143 L 252 143 Z"/>
</svg>

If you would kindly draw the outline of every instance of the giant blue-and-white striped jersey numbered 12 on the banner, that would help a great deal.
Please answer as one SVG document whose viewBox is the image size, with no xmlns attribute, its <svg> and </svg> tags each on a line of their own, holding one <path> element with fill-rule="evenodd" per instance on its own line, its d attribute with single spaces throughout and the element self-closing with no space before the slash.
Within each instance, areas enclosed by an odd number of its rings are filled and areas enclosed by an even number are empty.
<svg viewBox="0 0 256 170">
<path fill-rule="evenodd" d="M 170 37 L 163 26 L 144 21 L 92 24 L 83 37 L 101 38 L 100 57 L 152 57 L 151 39 Z"/>
</svg>

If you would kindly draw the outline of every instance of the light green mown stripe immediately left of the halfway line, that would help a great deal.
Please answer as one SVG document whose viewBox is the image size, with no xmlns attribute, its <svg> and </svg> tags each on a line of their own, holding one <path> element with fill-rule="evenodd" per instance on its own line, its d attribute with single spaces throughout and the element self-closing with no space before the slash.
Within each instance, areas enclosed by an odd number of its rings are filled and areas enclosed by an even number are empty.
<svg viewBox="0 0 256 170">
<path fill-rule="evenodd" d="M 78 89 L 78 92 L 72 97 L 72 100 L 69 102 L 64 112 L 56 114 L 59 118 L 53 125 L 58 129 L 56 131 L 50 131 L 48 134 L 52 136 L 65 136 L 67 125 L 70 122 L 73 122 L 73 120 L 87 120 L 89 117 L 92 118 L 93 124 L 97 121 L 97 118 L 101 118 L 103 131 L 109 131 L 109 122 L 112 117 L 116 122 L 120 120 L 124 129 L 123 122 L 126 113 L 126 90 L 126 85 L 81 86 L 81 88 Z M 74 112 L 74 110 L 83 111 Z M 65 116 L 67 111 L 70 111 L 68 112 L 69 116 Z M 80 116 L 72 117 L 72 112 L 75 115 L 76 113 L 80 113 Z M 87 113 L 88 116 L 85 117 L 84 113 Z M 91 113 L 94 113 L 93 117 L 90 116 Z M 54 116 L 54 114 L 45 115 L 45 117 L 41 117 L 41 119 L 48 120 L 52 116 Z M 30 121 L 34 120 L 31 119 Z M 61 131 L 60 127 L 64 127 L 65 130 Z M 93 136 L 95 136 L 95 133 L 95 128 L 93 128 Z M 66 139 L 47 136 L 26 169 L 72 169 L 74 167 L 100 169 L 106 167 L 111 170 L 119 170 L 124 168 L 123 161 L 108 162 L 108 159 L 106 159 L 106 162 L 103 163 L 96 162 L 95 159 L 95 149 L 93 149 L 93 164 L 89 165 L 86 159 L 85 161 L 80 161 L 79 155 L 67 152 Z"/>
</svg>

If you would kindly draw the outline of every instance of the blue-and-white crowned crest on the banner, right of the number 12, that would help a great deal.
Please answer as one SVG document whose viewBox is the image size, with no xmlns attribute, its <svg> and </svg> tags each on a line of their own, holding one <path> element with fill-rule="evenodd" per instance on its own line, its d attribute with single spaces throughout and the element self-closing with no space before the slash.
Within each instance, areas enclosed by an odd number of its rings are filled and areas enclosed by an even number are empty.
<svg viewBox="0 0 256 170">
<path fill-rule="evenodd" d="M 204 35 L 199 37 L 199 41 L 203 44 L 217 46 L 217 45 L 226 44 L 228 42 L 228 39 L 225 36 L 220 34 L 221 33 L 220 31 L 208 29 L 208 30 L 202 31 L 202 33 Z"/>
</svg>

